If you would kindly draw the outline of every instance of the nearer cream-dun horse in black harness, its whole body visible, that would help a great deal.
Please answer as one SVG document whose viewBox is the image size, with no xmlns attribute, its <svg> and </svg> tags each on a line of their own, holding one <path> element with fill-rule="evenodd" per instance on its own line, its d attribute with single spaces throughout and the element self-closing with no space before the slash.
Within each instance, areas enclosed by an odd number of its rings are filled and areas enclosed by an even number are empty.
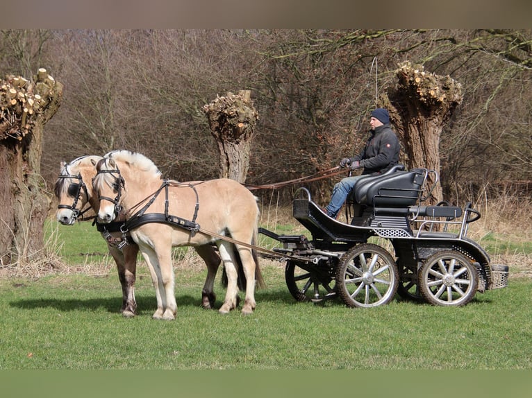
<svg viewBox="0 0 532 398">
<path fill-rule="evenodd" d="M 149 266 L 156 289 L 157 310 L 153 318 L 172 320 L 176 316 L 172 267 L 175 246 L 217 245 L 227 277 L 220 313 L 238 306 L 238 271 L 242 266 L 246 279 L 242 313 L 253 312 L 255 284 L 263 286 L 256 250 L 252 248 L 257 239 L 259 211 L 256 197 L 242 184 L 229 179 L 188 183 L 164 180 L 157 166 L 144 155 L 117 150 L 98 162 L 93 185 L 100 198 L 101 223 L 112 222 L 117 214 L 124 215 L 127 223 L 142 217 L 163 217 L 155 222 L 136 223 L 128 230 Z M 197 228 L 183 227 L 187 224 Z M 232 242 L 223 239 L 225 236 Z"/>
</svg>

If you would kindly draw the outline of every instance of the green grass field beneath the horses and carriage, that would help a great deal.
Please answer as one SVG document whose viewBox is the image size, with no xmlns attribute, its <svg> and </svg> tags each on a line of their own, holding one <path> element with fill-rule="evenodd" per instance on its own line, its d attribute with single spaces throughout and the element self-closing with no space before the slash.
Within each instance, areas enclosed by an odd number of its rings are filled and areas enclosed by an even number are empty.
<svg viewBox="0 0 532 398">
<path fill-rule="evenodd" d="M 161 322 L 151 319 L 155 293 L 142 261 L 138 315 L 125 319 L 114 263 L 90 223 L 51 221 L 48 234 L 63 268 L 0 279 L 0 370 L 532 369 L 531 252 L 526 243 L 497 245 L 498 235 L 489 236 L 491 253 L 519 259 L 508 263 L 508 288 L 477 293 L 460 308 L 398 297 L 374 309 L 299 303 L 285 286 L 284 264 L 263 259 L 267 288 L 256 293 L 256 312 L 219 315 L 201 309 L 206 270 L 181 250 L 177 318 Z M 219 283 L 216 291 L 219 306 Z"/>
</svg>

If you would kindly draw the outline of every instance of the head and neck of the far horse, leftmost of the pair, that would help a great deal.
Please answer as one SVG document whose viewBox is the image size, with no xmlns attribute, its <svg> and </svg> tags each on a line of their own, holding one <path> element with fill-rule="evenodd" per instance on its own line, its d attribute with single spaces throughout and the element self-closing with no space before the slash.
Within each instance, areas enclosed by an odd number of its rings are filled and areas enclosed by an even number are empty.
<svg viewBox="0 0 532 398">
<path fill-rule="evenodd" d="M 85 211 L 83 207 L 89 202 L 92 187 L 85 181 L 96 174 L 96 162 L 101 157 L 83 156 L 70 163 L 61 162 L 60 173 L 54 187 L 54 193 L 59 200 L 56 212 L 57 220 L 64 225 L 72 225 Z"/>
</svg>

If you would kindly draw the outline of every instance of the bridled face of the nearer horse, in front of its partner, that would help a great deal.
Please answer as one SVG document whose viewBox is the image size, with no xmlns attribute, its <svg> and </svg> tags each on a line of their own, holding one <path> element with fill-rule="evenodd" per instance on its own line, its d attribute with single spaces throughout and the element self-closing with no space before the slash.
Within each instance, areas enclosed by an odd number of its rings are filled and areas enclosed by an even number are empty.
<svg viewBox="0 0 532 398">
<path fill-rule="evenodd" d="M 97 163 L 92 187 L 99 198 L 98 220 L 100 223 L 110 223 L 122 209 L 120 202 L 124 190 L 124 178 L 114 159 L 103 157 Z"/>
</svg>

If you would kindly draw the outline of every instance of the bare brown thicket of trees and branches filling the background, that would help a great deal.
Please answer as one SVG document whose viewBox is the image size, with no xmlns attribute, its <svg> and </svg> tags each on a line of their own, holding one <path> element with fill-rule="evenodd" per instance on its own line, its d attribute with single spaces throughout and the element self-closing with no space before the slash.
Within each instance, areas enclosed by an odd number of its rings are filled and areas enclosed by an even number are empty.
<svg viewBox="0 0 532 398">
<path fill-rule="evenodd" d="M 292 180 L 336 166 L 365 142 L 376 97 L 409 60 L 451 76 L 464 98 L 440 139 L 440 177 L 452 202 L 529 196 L 532 31 L 61 30 L 1 31 L 0 72 L 46 68 L 64 85 L 44 131 L 41 171 L 126 148 L 167 178 L 218 177 L 203 105 L 251 90 L 259 120 L 247 182 Z M 335 180 L 313 182 L 317 201 Z M 281 200 L 294 187 L 282 189 Z"/>
</svg>

